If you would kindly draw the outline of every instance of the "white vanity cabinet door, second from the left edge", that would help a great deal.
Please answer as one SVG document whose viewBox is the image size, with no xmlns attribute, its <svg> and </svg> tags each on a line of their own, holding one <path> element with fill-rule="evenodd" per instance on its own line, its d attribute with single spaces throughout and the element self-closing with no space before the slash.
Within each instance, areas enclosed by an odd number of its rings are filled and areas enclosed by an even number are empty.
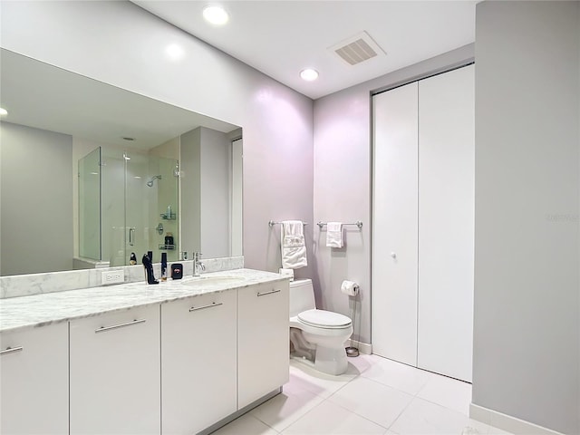
<svg viewBox="0 0 580 435">
<path fill-rule="evenodd" d="M 70 323 L 71 434 L 160 433 L 160 306 Z"/>
</svg>

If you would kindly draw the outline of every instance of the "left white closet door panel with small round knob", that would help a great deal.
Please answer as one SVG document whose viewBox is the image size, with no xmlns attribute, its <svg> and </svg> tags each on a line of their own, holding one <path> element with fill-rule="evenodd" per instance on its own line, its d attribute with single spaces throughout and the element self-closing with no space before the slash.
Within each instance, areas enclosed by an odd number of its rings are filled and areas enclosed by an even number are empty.
<svg viewBox="0 0 580 435">
<path fill-rule="evenodd" d="M 372 352 L 417 364 L 417 83 L 372 98 Z"/>
</svg>

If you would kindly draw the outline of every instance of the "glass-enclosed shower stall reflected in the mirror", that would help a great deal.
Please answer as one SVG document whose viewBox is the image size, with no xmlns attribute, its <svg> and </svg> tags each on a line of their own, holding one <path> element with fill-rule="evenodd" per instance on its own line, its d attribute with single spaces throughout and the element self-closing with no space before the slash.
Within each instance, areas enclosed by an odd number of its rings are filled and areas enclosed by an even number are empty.
<svg viewBox="0 0 580 435">
<path fill-rule="evenodd" d="M 99 147 L 79 169 L 79 256 L 99 266 L 179 259 L 179 160 Z"/>
</svg>

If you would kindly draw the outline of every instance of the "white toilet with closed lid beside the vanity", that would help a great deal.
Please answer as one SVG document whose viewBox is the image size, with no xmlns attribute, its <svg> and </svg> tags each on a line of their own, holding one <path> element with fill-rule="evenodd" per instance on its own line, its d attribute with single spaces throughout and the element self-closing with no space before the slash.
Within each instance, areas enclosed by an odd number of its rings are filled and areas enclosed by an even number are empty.
<svg viewBox="0 0 580 435">
<path fill-rule="evenodd" d="M 290 356 L 314 365 L 319 372 L 343 374 L 348 362 L 344 342 L 353 333 L 349 317 L 317 310 L 312 280 L 290 283 Z"/>
</svg>

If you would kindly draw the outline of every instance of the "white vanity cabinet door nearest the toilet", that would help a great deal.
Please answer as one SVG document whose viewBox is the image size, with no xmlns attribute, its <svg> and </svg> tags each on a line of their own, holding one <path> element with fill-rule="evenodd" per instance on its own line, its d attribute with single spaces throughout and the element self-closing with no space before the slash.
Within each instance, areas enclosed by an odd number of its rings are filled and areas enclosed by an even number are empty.
<svg viewBox="0 0 580 435">
<path fill-rule="evenodd" d="M 288 281 L 237 293 L 237 407 L 244 408 L 289 379 Z"/>
</svg>

